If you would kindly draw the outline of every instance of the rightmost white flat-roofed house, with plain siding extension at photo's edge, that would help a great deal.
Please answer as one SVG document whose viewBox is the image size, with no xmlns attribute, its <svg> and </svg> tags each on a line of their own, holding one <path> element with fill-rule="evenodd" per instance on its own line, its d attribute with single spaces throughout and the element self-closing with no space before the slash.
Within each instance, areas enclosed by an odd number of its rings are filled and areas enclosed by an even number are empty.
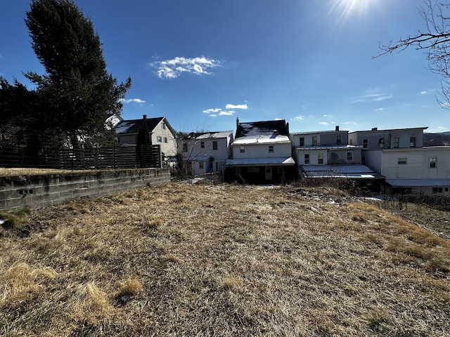
<svg viewBox="0 0 450 337">
<path fill-rule="evenodd" d="M 421 128 L 354 131 L 350 143 L 363 146 L 363 162 L 386 177 L 387 194 L 446 194 L 450 187 L 450 147 L 423 147 Z"/>
</svg>

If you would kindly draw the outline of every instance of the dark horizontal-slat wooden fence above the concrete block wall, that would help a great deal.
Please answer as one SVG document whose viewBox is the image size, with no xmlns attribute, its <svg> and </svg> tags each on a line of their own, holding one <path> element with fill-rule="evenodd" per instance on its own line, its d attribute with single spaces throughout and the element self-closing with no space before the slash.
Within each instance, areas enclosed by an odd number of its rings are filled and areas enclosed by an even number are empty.
<svg viewBox="0 0 450 337">
<path fill-rule="evenodd" d="M 0 167 L 89 170 L 162 167 L 160 145 L 36 150 L 30 146 L 0 146 Z"/>
</svg>

